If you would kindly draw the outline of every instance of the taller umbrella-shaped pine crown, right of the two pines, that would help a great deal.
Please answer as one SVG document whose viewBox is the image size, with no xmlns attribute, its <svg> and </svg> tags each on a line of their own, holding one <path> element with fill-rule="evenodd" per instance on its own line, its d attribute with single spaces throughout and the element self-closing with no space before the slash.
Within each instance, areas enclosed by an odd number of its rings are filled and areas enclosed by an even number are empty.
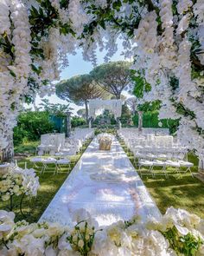
<svg viewBox="0 0 204 256">
<path fill-rule="evenodd" d="M 121 93 L 131 85 L 131 62 L 108 62 L 92 69 L 90 75 L 106 92 L 120 99 Z"/>
</svg>

